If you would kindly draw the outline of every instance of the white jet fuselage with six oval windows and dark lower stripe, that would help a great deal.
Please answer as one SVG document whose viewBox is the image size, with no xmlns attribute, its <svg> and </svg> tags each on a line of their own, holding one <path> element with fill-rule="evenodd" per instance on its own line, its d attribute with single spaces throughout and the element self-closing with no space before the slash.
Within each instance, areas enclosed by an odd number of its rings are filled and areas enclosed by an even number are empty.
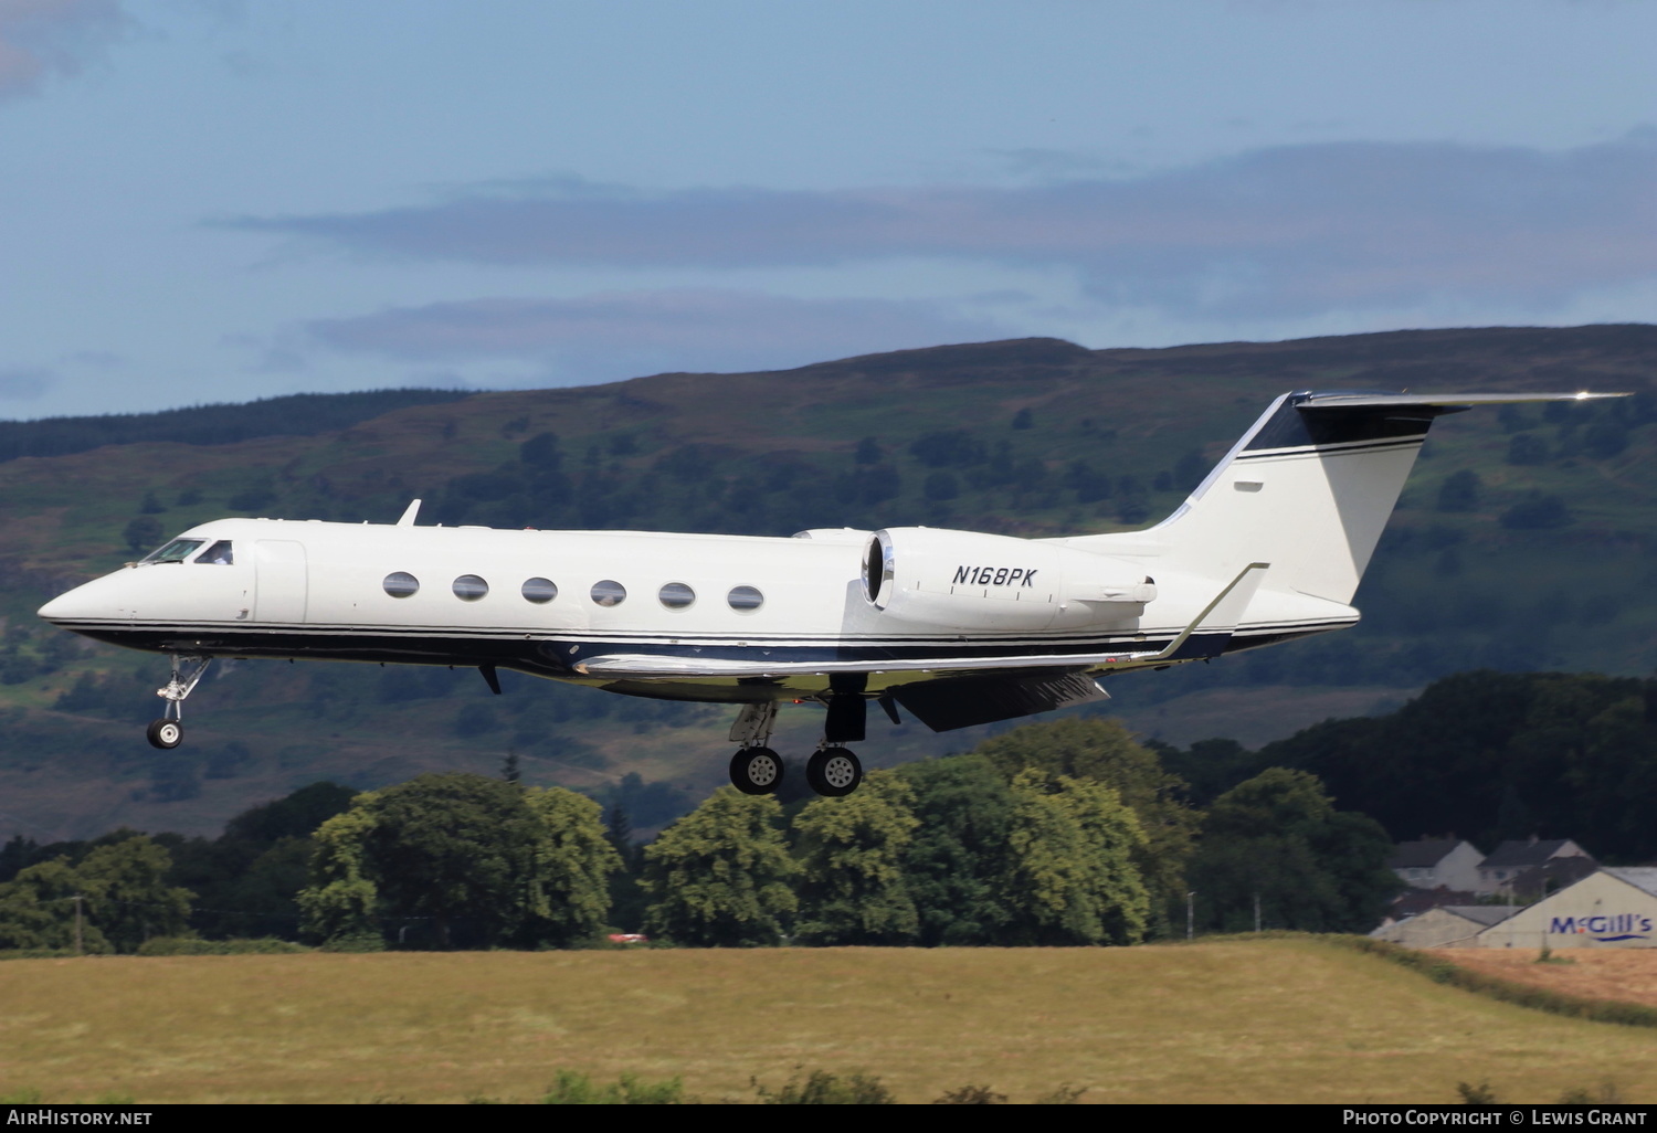
<svg viewBox="0 0 1657 1133">
<path fill-rule="evenodd" d="M 1145 555 L 971 535 L 984 542 L 944 547 L 898 580 L 938 603 L 938 618 L 925 608 L 921 620 L 905 618 L 868 600 L 872 538 L 229 518 L 182 532 L 176 542 L 197 543 L 189 553 L 129 565 L 41 615 L 159 653 L 497 666 L 636 696 L 747 702 L 825 694 L 830 674 L 848 668 L 883 666 L 868 673 L 868 694 L 1009 664 L 1132 668 L 1167 646 L 1216 588 L 1167 571 L 1147 586 L 1140 580 L 1155 558 Z M 232 562 L 209 560 L 220 545 Z M 1120 593 L 1100 593 L 1109 578 Z M 1337 603 L 1261 600 L 1278 610 L 1256 601 L 1251 624 L 1225 648 L 1357 618 Z M 1110 651 L 1120 661 L 1100 664 Z M 603 664 L 618 656 L 636 664 L 628 673 Z M 719 673 L 721 663 L 732 671 Z"/>
</svg>

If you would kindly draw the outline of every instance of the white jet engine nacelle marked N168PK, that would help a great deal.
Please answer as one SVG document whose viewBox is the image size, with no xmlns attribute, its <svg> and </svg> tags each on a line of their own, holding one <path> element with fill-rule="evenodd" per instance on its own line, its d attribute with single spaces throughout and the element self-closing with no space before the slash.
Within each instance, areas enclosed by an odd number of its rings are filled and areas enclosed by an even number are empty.
<svg viewBox="0 0 1657 1133">
<path fill-rule="evenodd" d="M 893 527 L 868 540 L 863 596 L 915 624 L 1047 629 L 1128 623 L 1157 585 L 1133 563 L 1057 543 Z"/>
</svg>

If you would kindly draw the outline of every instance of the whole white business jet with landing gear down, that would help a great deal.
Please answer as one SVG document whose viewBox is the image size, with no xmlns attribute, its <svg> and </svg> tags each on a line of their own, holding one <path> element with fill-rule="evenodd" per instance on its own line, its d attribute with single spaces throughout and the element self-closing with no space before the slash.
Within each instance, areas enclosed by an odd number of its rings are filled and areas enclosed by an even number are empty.
<svg viewBox="0 0 1657 1133">
<path fill-rule="evenodd" d="M 1143 532 L 1012 538 L 898 527 L 792 538 L 227 518 L 40 616 L 166 653 L 149 742 L 176 747 L 214 658 L 517 669 L 739 704 L 731 780 L 777 788 L 779 704 L 827 707 L 805 777 L 847 795 L 868 704 L 935 730 L 1107 699 L 1099 681 L 1359 620 L 1349 603 L 1432 421 L 1622 394 L 1292 393 Z"/>
</svg>

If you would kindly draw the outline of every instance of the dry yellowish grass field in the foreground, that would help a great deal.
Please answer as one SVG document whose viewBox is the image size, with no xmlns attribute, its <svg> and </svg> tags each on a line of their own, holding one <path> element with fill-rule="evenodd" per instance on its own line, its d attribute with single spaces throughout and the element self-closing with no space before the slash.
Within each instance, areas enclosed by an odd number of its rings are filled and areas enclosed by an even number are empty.
<svg viewBox="0 0 1657 1133">
<path fill-rule="evenodd" d="M 800 1067 L 903 1102 L 1652 1102 L 1654 1053 L 1316 939 L 0 964 L 0 1095 L 45 1102 L 510 1102 L 560 1068 L 719 1102 Z"/>
</svg>

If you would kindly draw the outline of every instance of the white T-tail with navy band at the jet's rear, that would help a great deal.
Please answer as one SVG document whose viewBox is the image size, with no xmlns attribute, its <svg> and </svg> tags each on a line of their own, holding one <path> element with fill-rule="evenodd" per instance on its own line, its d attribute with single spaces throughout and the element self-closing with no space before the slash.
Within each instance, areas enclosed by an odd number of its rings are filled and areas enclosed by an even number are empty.
<svg viewBox="0 0 1657 1133">
<path fill-rule="evenodd" d="M 1345 606 L 1437 417 L 1619 396 L 1289 393 L 1167 520 L 1138 535 L 1065 542 L 1109 553 L 1115 540 L 1143 540 L 1167 568 L 1215 578 L 1271 563 L 1271 590 Z"/>
</svg>

